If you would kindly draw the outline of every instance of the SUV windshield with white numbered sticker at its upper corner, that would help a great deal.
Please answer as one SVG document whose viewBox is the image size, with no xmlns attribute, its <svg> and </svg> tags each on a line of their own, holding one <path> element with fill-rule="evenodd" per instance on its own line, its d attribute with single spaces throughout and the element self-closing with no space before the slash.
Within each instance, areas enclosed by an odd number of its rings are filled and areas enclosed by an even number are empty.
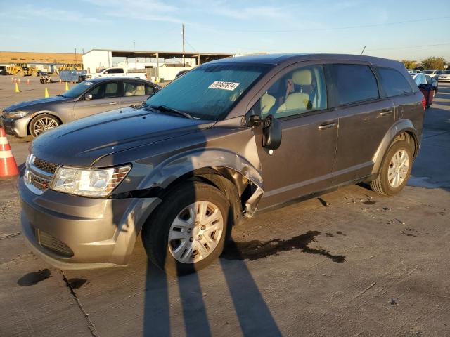
<svg viewBox="0 0 450 337">
<path fill-rule="evenodd" d="M 195 119 L 224 119 L 243 94 L 270 67 L 236 63 L 203 65 L 155 93 L 146 100 L 146 105 L 164 105 L 187 112 Z"/>
</svg>

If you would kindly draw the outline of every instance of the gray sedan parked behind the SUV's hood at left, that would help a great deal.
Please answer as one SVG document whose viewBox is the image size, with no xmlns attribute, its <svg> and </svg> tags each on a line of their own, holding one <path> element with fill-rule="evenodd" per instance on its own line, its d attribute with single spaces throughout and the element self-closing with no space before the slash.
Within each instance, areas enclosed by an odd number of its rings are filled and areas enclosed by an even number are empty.
<svg viewBox="0 0 450 337">
<path fill-rule="evenodd" d="M 10 105 L 3 110 L 0 121 L 10 135 L 37 137 L 91 114 L 141 104 L 158 90 L 160 86 L 140 79 L 92 79 L 58 96 Z"/>
</svg>

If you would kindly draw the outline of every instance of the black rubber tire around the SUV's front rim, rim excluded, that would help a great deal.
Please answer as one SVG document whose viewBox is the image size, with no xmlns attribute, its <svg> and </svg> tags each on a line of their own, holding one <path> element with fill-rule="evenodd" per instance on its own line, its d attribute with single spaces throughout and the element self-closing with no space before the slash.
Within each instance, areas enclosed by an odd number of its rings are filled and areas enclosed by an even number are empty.
<svg viewBox="0 0 450 337">
<path fill-rule="evenodd" d="M 205 259 L 198 263 L 180 263 L 169 251 L 168 237 L 170 226 L 178 213 L 195 201 L 210 201 L 219 207 L 224 217 L 224 231 L 216 249 Z M 230 236 L 232 227 L 232 211 L 229 201 L 217 188 L 206 183 L 189 181 L 176 187 L 174 191 L 167 194 L 165 201 L 151 216 L 148 223 L 143 227 L 142 239 L 146 252 L 153 262 L 169 275 L 186 275 L 203 269 L 217 259 L 222 251 L 226 240 Z"/>
</svg>

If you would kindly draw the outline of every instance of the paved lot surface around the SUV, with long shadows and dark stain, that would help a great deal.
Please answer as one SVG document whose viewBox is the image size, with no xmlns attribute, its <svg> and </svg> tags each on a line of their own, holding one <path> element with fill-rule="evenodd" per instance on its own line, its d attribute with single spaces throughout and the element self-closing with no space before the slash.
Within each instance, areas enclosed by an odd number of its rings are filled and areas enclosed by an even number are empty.
<svg viewBox="0 0 450 337">
<path fill-rule="evenodd" d="M 0 109 L 44 95 L 21 86 L 0 77 Z M 28 140 L 8 139 L 22 164 Z M 140 240 L 127 268 L 56 270 L 19 212 L 0 180 L 0 336 L 450 336 L 450 84 L 399 195 L 354 185 L 260 213 L 195 275 L 166 277 Z"/>
</svg>

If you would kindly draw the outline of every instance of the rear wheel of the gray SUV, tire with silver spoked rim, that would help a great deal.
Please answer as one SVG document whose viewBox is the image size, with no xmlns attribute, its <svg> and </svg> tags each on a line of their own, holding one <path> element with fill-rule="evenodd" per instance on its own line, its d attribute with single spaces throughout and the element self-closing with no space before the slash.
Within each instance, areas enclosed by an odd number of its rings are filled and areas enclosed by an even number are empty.
<svg viewBox="0 0 450 337">
<path fill-rule="evenodd" d="M 396 154 L 398 156 L 399 153 L 404 153 L 407 156 L 406 168 L 404 165 L 396 167 L 396 164 L 404 160 L 403 157 L 397 157 L 401 160 L 396 160 L 394 156 Z M 399 193 L 408 182 L 412 166 L 413 151 L 411 147 L 405 140 L 397 140 L 392 143 L 390 149 L 385 154 L 378 177 L 371 181 L 372 190 L 380 195 L 394 195 Z M 400 170 L 398 175 L 396 169 Z M 397 178 L 399 180 L 396 180 Z"/>
</svg>

